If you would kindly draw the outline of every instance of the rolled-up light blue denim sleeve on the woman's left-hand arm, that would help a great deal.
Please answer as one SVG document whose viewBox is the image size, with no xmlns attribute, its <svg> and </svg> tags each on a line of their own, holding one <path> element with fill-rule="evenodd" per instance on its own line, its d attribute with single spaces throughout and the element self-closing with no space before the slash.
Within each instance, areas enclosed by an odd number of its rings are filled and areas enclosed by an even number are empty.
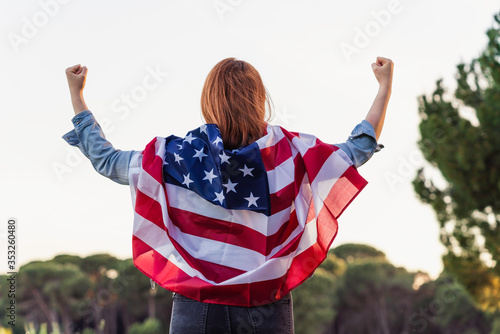
<svg viewBox="0 0 500 334">
<path fill-rule="evenodd" d="M 115 149 L 89 110 L 79 113 L 71 121 L 74 129 L 62 138 L 69 145 L 78 147 L 99 174 L 128 185 L 129 163 L 135 151 Z"/>
</svg>

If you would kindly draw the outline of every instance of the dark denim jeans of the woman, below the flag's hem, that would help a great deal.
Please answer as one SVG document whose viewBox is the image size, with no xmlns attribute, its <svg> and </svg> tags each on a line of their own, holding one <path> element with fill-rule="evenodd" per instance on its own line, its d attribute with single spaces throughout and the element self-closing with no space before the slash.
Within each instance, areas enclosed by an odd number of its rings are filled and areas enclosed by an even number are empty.
<svg viewBox="0 0 500 334">
<path fill-rule="evenodd" d="M 202 303 L 174 294 L 170 334 L 293 334 L 289 293 L 277 302 L 242 307 Z"/>
</svg>

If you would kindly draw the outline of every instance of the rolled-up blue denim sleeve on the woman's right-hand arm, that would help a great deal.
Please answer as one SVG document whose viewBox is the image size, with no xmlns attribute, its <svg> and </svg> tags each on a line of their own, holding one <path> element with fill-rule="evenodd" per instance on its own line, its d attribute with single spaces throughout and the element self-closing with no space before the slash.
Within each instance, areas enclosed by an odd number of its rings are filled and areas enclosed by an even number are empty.
<svg viewBox="0 0 500 334">
<path fill-rule="evenodd" d="M 375 152 L 384 147 L 377 143 L 375 129 L 366 120 L 354 127 L 345 143 L 335 144 L 335 146 L 347 154 L 356 168 L 362 166 Z"/>
</svg>

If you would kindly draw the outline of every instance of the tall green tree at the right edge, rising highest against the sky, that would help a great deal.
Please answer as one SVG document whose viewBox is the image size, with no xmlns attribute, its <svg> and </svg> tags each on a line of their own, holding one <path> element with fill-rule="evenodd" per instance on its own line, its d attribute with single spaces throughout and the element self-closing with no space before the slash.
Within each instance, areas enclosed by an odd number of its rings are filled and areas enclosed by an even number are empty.
<svg viewBox="0 0 500 334">
<path fill-rule="evenodd" d="M 494 19 L 484 52 L 457 66 L 454 94 L 438 80 L 432 96 L 419 97 L 418 145 L 431 167 L 413 185 L 436 212 L 445 270 L 483 309 L 500 311 L 500 13 Z"/>
</svg>

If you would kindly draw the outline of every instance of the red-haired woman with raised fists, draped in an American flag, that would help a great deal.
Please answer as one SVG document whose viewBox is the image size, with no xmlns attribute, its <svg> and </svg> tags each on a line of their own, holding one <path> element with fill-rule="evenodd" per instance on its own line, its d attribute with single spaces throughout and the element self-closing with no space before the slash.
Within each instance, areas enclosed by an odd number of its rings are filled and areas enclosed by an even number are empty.
<svg viewBox="0 0 500 334">
<path fill-rule="evenodd" d="M 364 187 L 393 63 L 378 57 L 378 94 L 345 143 L 271 126 L 259 73 L 234 58 L 203 87 L 207 124 L 139 151 L 104 138 L 83 99 L 87 68 L 66 70 L 76 116 L 63 136 L 94 168 L 130 184 L 134 264 L 174 292 L 171 333 L 293 333 L 290 291 L 325 259 L 336 218 Z"/>
</svg>

